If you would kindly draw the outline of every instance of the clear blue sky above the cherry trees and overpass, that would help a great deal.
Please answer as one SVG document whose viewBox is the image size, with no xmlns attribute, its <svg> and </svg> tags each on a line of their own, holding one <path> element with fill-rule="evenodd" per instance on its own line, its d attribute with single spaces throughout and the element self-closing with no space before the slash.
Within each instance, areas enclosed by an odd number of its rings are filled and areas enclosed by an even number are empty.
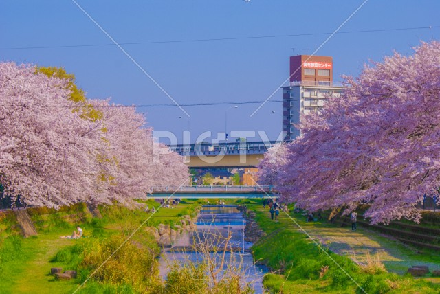
<svg viewBox="0 0 440 294">
<path fill-rule="evenodd" d="M 119 43 L 333 32 L 363 1 L 84 1 L 78 3 Z M 440 1 L 368 1 L 341 32 L 440 26 Z M 122 45 L 179 103 L 265 100 L 289 75 L 289 56 L 311 54 L 329 35 Z M 317 53 L 333 56 L 333 78 L 360 74 L 393 50 L 411 54 L 440 29 L 336 34 Z M 173 104 L 116 46 L 5 49 L 111 43 L 72 1 L 0 1 L 0 59 L 62 66 L 89 98 L 118 104 Z M 278 91 L 273 100 L 281 100 Z M 276 139 L 281 102 L 184 107 L 191 139 L 204 131 L 265 131 Z M 229 109 L 229 110 L 227 110 Z M 181 138 L 177 107 L 140 107 L 157 131 Z M 272 112 L 275 111 L 275 112 Z M 253 140 L 258 140 L 259 137 Z"/>
</svg>

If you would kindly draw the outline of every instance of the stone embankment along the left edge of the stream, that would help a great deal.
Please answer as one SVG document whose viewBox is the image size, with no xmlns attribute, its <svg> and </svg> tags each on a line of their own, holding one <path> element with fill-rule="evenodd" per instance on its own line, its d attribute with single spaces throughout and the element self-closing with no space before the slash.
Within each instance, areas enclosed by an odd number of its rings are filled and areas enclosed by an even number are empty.
<svg viewBox="0 0 440 294">
<path fill-rule="evenodd" d="M 195 220 L 185 215 L 180 219 L 180 225 L 159 224 L 157 227 L 145 227 L 144 231 L 154 236 L 157 244 L 162 247 L 171 247 L 176 238 L 184 232 L 194 231 L 197 228 Z"/>
</svg>

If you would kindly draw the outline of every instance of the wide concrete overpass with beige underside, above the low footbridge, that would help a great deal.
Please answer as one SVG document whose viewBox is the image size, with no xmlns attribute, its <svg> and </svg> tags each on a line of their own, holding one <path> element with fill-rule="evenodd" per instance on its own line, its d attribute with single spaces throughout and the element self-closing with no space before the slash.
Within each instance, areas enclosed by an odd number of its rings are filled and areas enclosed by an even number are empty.
<svg viewBox="0 0 440 294">
<path fill-rule="evenodd" d="M 185 157 L 190 168 L 251 168 L 278 142 L 196 143 L 170 146 Z"/>
</svg>

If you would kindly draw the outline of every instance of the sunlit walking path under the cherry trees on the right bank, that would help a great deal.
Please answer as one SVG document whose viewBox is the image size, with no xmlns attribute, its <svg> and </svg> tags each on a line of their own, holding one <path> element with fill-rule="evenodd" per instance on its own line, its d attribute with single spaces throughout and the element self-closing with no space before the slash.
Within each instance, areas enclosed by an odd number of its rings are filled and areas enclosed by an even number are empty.
<svg viewBox="0 0 440 294">
<path fill-rule="evenodd" d="M 269 209 L 258 207 L 270 217 Z M 373 258 L 380 258 L 388 271 L 404 274 L 413 265 L 427 265 L 430 271 L 440 269 L 440 253 L 426 251 L 423 254 L 414 247 L 404 245 L 398 240 L 384 236 L 376 231 L 358 228 L 351 231 L 351 227 L 340 227 L 329 223 L 305 221 L 301 214 L 289 213 L 307 233 L 322 245 L 343 256 L 348 256 L 355 262 L 364 262 L 367 251 Z M 298 226 L 281 212 L 278 220 L 283 227 L 301 231 Z M 432 282 L 440 282 L 440 278 L 433 278 Z"/>
</svg>

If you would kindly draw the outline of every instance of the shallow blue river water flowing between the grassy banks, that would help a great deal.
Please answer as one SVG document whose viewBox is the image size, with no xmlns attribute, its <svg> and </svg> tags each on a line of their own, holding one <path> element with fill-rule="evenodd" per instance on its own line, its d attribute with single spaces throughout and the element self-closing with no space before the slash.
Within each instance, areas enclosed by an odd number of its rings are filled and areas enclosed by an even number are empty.
<svg viewBox="0 0 440 294">
<path fill-rule="evenodd" d="M 180 250 L 180 248 L 200 243 L 205 245 L 209 243 L 223 248 L 225 238 L 231 234 L 228 248 L 232 248 L 234 252 L 226 252 L 223 269 L 227 269 L 227 262 L 232 260 L 235 267 L 243 269 L 245 280 L 251 283 L 255 293 L 263 293 L 262 282 L 263 276 L 267 273 L 267 268 L 263 265 L 254 264 L 254 258 L 249 250 L 252 247 L 252 243 L 244 240 L 246 220 L 237 207 L 235 205 L 203 205 L 197 216 L 196 224 L 196 231 L 182 234 L 174 242 L 174 249 L 164 251 L 164 257 L 160 258 L 159 261 L 162 277 L 166 278 L 167 263 L 169 264 L 174 260 L 179 262 L 188 262 L 188 260 L 199 262 L 203 259 L 202 253 Z M 219 238 L 219 236 L 222 236 L 222 238 Z M 223 253 L 223 251 L 219 253 Z M 210 253 L 210 258 L 217 258 L 218 260 L 219 253 Z"/>
</svg>

